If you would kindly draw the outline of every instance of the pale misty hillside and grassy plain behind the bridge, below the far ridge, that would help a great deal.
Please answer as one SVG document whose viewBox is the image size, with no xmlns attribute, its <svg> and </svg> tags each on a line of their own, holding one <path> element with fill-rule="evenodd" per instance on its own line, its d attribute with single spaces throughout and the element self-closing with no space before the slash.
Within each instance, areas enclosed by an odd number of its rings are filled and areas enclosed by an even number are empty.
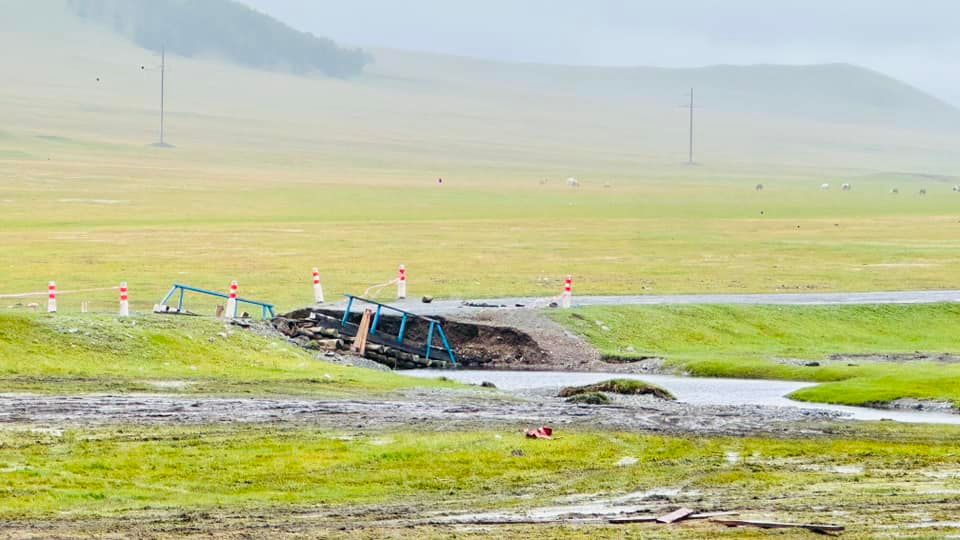
<svg viewBox="0 0 960 540">
<path fill-rule="evenodd" d="M 567 274 L 610 294 L 960 286 L 952 135 L 710 110 L 690 167 L 672 105 L 384 51 L 350 81 L 169 58 L 177 148 L 159 150 L 150 53 L 34 17 L 48 33 L 0 33 L 32 53 L 0 59 L 17 74 L 0 88 L 0 296 L 126 280 L 146 310 L 174 282 L 236 279 L 287 309 L 311 301 L 315 266 L 333 299 L 401 263 L 414 297 L 553 296 Z"/>
</svg>

